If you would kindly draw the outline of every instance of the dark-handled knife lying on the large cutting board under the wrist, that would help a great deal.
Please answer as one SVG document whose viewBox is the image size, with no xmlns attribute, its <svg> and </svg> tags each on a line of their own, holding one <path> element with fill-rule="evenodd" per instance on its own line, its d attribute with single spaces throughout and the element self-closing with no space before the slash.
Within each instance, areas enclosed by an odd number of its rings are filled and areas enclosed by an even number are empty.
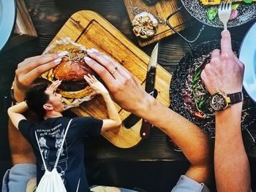
<svg viewBox="0 0 256 192">
<path fill-rule="evenodd" d="M 156 77 L 156 71 L 157 71 L 157 55 L 158 55 L 158 47 L 159 44 L 154 47 L 154 50 L 151 53 L 151 57 L 148 63 L 148 69 L 146 74 L 146 86 L 145 90 L 147 93 L 149 93 L 151 96 L 154 96 L 154 98 L 157 98 L 157 91 L 154 89 L 155 84 L 155 77 Z M 124 121 L 123 125 L 125 128 L 132 128 L 141 118 L 131 114 L 129 115 Z M 140 128 L 140 137 L 143 139 L 146 139 L 149 137 L 151 129 L 151 124 L 143 120 L 142 127 Z"/>
</svg>

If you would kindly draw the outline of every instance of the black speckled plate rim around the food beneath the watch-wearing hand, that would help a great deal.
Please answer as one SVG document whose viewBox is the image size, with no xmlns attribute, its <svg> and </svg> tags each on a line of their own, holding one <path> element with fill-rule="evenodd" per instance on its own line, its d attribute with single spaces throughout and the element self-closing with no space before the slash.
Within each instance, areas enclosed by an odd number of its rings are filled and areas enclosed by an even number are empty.
<svg viewBox="0 0 256 192">
<path fill-rule="evenodd" d="M 233 50 L 238 53 L 239 43 L 233 42 Z M 182 91 L 186 88 L 185 82 L 189 75 L 189 69 L 194 66 L 194 61 L 196 58 L 200 58 L 203 55 L 208 55 L 212 50 L 220 47 L 220 41 L 214 40 L 211 42 L 203 42 L 202 44 L 195 47 L 190 53 L 184 55 L 179 61 L 176 70 L 173 72 L 172 83 L 170 84 L 170 108 L 178 114 L 184 116 L 188 120 L 195 123 L 199 126 L 206 134 L 211 137 L 215 136 L 215 120 L 214 116 L 212 118 L 200 119 L 196 118 L 195 115 L 192 115 L 187 107 L 184 104 L 184 96 Z M 252 107 L 256 107 L 256 104 L 246 96 L 244 91 L 244 97 L 249 101 L 249 105 Z M 247 102 L 248 104 L 248 102 Z M 253 110 L 249 110 L 249 115 L 244 119 L 242 123 L 242 129 L 250 128 L 252 123 L 256 120 L 256 108 L 252 108 Z M 214 123 L 207 124 L 209 120 L 213 120 Z"/>
</svg>

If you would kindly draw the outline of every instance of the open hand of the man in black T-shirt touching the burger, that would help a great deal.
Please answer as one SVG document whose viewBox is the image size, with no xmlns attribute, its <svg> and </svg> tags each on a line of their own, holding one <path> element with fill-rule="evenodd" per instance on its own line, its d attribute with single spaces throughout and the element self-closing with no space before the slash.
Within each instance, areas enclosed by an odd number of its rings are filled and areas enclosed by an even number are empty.
<svg viewBox="0 0 256 192">
<path fill-rule="evenodd" d="M 94 90 L 95 94 L 101 94 L 102 96 L 104 96 L 105 94 L 108 94 L 108 90 L 104 87 L 104 85 L 102 85 L 101 82 L 99 82 L 99 80 L 96 79 L 96 77 L 94 77 L 94 75 L 92 76 L 91 74 L 89 74 L 88 76 L 85 75 L 84 79 L 88 82 L 88 84 Z"/>
</svg>

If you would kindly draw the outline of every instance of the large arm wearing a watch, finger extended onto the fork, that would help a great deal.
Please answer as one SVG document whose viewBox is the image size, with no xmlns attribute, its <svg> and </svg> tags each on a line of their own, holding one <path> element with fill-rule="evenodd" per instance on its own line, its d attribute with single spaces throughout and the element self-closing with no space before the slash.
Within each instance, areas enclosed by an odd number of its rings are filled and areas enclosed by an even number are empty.
<svg viewBox="0 0 256 192">
<path fill-rule="evenodd" d="M 228 31 L 222 32 L 221 50 L 214 50 L 201 77 L 209 93 L 242 91 L 244 64 L 232 51 Z M 216 112 L 214 170 L 218 191 L 250 191 L 249 161 L 241 135 L 242 102 Z"/>
</svg>

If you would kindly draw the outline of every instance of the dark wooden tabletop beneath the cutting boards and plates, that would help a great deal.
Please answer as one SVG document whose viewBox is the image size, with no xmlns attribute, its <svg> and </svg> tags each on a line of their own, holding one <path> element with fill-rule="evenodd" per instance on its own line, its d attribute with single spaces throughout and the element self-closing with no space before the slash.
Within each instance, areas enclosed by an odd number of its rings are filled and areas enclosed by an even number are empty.
<svg viewBox="0 0 256 192">
<path fill-rule="evenodd" d="M 90 9 L 98 12 L 112 23 L 113 26 L 116 26 L 128 39 L 134 42 L 135 45 L 138 45 L 137 39 L 131 29 L 131 23 L 127 15 L 127 10 L 124 7 L 124 2 L 121 0 L 26 0 L 26 5 L 39 37 L 0 54 L 1 114 L 4 114 L 4 107 L 7 107 L 4 101 L 8 101 L 8 99 L 4 96 L 8 97 L 9 88 L 18 63 L 25 58 L 40 55 L 57 34 L 61 26 L 64 25 L 74 12 L 82 9 Z M 197 33 L 200 25 L 198 22 L 194 23 L 192 27 L 190 26 L 184 31 L 184 34 L 191 37 Z M 252 26 L 252 22 L 244 26 L 232 28 L 230 31 L 233 39 L 241 42 L 250 26 Z M 206 27 L 198 42 L 193 46 L 200 44 L 200 42 L 219 39 L 220 31 L 221 29 L 218 28 Z M 150 55 L 153 47 L 154 45 L 148 45 L 140 48 Z M 163 39 L 159 48 L 159 64 L 164 66 L 168 72 L 172 73 L 178 61 L 189 50 L 190 47 L 187 42 L 184 42 L 178 35 Z M 3 117 L 3 120 L 6 122 L 6 114 Z M 4 134 L 5 136 L 1 137 L 4 138 L 4 143 L 6 143 L 7 132 L 4 131 Z M 5 144 L 3 145 L 7 146 Z M 132 149 L 118 149 L 103 137 L 89 140 L 86 148 L 88 159 L 104 161 L 174 161 L 185 159 L 181 153 L 170 150 L 165 142 L 165 134 L 162 134 L 157 128 L 154 128 L 152 131 L 150 139 L 143 141 L 140 145 Z M 249 152 L 249 155 L 256 156 L 256 150 Z"/>
</svg>

